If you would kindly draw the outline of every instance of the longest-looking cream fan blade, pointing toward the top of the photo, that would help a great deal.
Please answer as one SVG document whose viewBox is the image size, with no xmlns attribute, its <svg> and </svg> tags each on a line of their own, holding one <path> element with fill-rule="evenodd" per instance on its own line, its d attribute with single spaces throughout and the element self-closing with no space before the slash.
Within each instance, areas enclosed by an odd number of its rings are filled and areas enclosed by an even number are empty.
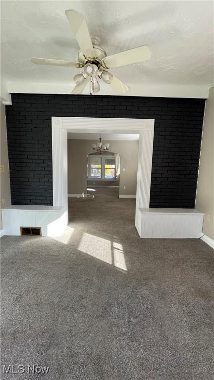
<svg viewBox="0 0 214 380">
<path fill-rule="evenodd" d="M 94 58 L 95 52 L 85 17 L 73 9 L 66 10 L 65 14 L 83 55 L 87 58 Z"/>
</svg>

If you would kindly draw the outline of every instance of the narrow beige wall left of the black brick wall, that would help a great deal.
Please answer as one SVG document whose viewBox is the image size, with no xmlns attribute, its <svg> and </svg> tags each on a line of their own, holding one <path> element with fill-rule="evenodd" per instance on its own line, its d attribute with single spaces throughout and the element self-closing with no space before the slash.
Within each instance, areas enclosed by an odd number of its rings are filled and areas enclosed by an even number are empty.
<svg viewBox="0 0 214 380">
<path fill-rule="evenodd" d="M 10 198 L 10 181 L 9 181 L 9 163 L 7 152 L 7 134 L 5 105 L 0 104 L 0 165 L 4 165 L 4 171 L 0 173 L 0 206 L 5 207 L 11 204 Z M 2 198 L 6 199 L 6 204 L 2 205 Z M 0 214 L 0 230 L 2 229 Z"/>
</svg>

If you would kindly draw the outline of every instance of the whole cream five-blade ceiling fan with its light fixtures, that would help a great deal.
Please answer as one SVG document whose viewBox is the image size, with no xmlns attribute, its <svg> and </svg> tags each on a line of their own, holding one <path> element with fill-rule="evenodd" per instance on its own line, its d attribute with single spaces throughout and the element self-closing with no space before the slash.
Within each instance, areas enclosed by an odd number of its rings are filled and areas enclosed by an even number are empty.
<svg viewBox="0 0 214 380">
<path fill-rule="evenodd" d="M 98 78 L 116 91 L 126 93 L 129 86 L 113 76 L 108 69 L 149 60 L 151 57 L 149 47 L 143 45 L 107 56 L 103 47 L 99 47 L 100 39 L 94 35 L 90 36 L 85 17 L 73 9 L 66 10 L 65 14 L 80 47 L 78 62 L 47 58 L 32 58 L 31 61 L 39 65 L 81 68 L 81 73 L 73 78 L 76 86 L 72 94 L 82 94 L 88 83 L 91 84 L 91 92 L 98 93 L 100 91 Z"/>
</svg>

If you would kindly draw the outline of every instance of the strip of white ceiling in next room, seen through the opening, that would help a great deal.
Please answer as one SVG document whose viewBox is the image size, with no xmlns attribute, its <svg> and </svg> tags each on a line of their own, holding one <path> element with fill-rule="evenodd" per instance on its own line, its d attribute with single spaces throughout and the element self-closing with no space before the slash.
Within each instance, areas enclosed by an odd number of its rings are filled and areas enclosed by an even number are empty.
<svg viewBox="0 0 214 380">
<path fill-rule="evenodd" d="M 70 133 L 67 134 L 68 139 L 72 140 L 96 140 L 99 141 L 99 133 Z M 132 134 L 102 134 L 103 141 L 121 140 L 121 141 L 138 141 L 139 135 Z"/>
</svg>

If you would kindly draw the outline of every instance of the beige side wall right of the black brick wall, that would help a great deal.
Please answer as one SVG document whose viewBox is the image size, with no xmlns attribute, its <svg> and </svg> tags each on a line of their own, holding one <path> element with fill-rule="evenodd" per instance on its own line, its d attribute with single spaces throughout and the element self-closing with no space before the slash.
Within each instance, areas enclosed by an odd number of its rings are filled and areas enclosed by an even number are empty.
<svg viewBox="0 0 214 380">
<path fill-rule="evenodd" d="M 214 87 L 206 101 L 196 208 L 205 213 L 203 233 L 214 239 Z"/>
</svg>

